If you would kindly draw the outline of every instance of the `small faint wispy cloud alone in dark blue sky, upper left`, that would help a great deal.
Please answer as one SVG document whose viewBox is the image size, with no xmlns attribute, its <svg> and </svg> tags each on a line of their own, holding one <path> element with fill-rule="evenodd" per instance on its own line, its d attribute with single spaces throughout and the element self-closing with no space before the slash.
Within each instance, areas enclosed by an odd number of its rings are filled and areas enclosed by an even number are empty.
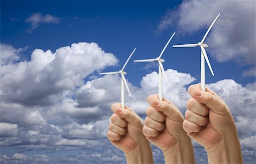
<svg viewBox="0 0 256 164">
<path fill-rule="evenodd" d="M 42 15 L 41 13 L 37 12 L 34 14 L 31 14 L 25 22 L 30 23 L 31 27 L 28 32 L 32 32 L 32 30 L 35 30 L 40 26 L 40 24 L 58 24 L 60 23 L 60 18 L 57 18 L 54 15 L 46 14 Z"/>
</svg>

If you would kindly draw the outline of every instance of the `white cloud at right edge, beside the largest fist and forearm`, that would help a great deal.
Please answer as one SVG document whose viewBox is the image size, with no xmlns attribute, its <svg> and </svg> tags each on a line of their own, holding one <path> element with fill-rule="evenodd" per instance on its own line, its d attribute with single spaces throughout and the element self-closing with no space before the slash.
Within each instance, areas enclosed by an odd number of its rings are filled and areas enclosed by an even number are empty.
<svg viewBox="0 0 256 164">
<path fill-rule="evenodd" d="M 228 104 L 236 120 L 237 129 L 241 137 L 256 132 L 256 112 L 254 110 L 256 106 L 255 88 L 251 90 L 243 87 L 232 79 L 225 79 L 209 84 L 209 88 L 215 91 Z"/>
</svg>

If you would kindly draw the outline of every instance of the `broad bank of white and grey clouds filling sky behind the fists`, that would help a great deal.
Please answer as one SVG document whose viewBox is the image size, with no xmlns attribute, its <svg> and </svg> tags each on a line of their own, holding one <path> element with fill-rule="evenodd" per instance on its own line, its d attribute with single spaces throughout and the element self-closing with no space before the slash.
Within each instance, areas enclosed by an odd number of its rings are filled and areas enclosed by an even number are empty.
<svg viewBox="0 0 256 164">
<path fill-rule="evenodd" d="M 10 56 L 0 69 L 0 146 L 18 150 L 13 155 L 1 154 L 1 163 L 125 163 L 123 153 L 105 136 L 112 114 L 110 105 L 120 99 L 121 78 L 96 75 L 84 82 L 88 75 L 117 65 L 112 53 L 104 52 L 96 43 L 78 43 L 54 53 L 35 49 L 31 61 L 17 61 L 18 49 L 4 44 L 0 47 Z M 167 88 L 163 79 L 163 95 L 184 113 L 187 87 L 195 78 L 173 69 L 166 74 L 171 86 Z M 158 73 L 142 77 L 140 87 L 129 81 L 128 85 L 133 98 L 126 96 L 126 105 L 145 116 L 147 96 L 158 92 Z M 242 86 L 233 79 L 208 85 L 233 113 L 245 163 L 255 161 L 255 148 L 250 144 L 255 142 L 255 85 Z M 153 148 L 155 161 L 164 163 L 162 152 Z M 31 150 L 38 153 L 26 154 Z M 80 153 L 46 154 L 64 150 Z M 205 163 L 207 155 L 197 144 L 195 154 L 197 162 Z"/>
</svg>

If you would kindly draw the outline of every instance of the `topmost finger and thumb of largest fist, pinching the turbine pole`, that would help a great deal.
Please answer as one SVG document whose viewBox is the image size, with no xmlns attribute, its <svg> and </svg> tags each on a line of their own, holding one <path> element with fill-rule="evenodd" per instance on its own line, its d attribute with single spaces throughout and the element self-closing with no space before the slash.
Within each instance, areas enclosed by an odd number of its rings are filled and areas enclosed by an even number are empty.
<svg viewBox="0 0 256 164">
<path fill-rule="evenodd" d="M 193 98 L 195 98 L 200 103 L 205 104 L 213 112 L 220 115 L 226 115 L 228 113 L 228 107 L 224 102 L 222 102 L 210 92 L 202 91 L 199 85 L 189 86 L 188 92 Z"/>
</svg>

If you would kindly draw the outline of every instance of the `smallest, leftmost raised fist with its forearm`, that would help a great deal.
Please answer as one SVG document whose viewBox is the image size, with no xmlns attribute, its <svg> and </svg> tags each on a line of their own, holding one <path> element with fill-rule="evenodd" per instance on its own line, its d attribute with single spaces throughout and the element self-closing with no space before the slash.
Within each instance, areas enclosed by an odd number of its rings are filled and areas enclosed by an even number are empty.
<svg viewBox="0 0 256 164">
<path fill-rule="evenodd" d="M 141 118 L 128 107 L 122 109 L 119 103 L 113 104 L 111 109 L 113 115 L 107 137 L 125 153 L 127 163 L 154 163 L 150 143 L 142 133 Z"/>
</svg>

